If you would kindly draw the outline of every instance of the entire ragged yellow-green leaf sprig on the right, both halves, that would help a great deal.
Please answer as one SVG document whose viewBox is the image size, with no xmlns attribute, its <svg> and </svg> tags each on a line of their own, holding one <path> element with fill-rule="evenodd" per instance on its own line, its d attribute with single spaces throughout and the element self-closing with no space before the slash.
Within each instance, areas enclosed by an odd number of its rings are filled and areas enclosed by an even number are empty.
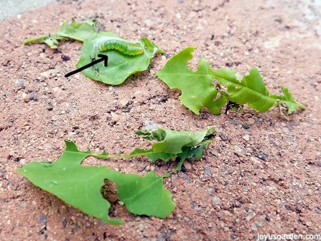
<svg viewBox="0 0 321 241">
<path fill-rule="evenodd" d="M 208 62 L 201 59 L 197 71 L 193 72 L 187 65 L 194 50 L 194 47 L 188 47 L 174 55 L 157 74 L 170 88 L 182 91 L 180 96 L 182 103 L 194 113 L 199 115 L 200 110 L 207 107 L 212 113 L 219 114 L 227 100 L 241 105 L 248 104 L 259 112 L 275 106 L 277 99 L 288 106 L 289 113 L 294 112 L 296 108 L 305 109 L 304 105 L 294 100 L 285 87 L 281 87 L 283 96 L 270 94 L 255 68 L 250 69 L 248 75 L 240 81 L 235 70 L 213 71 Z M 226 86 L 227 92 L 221 91 L 220 97 L 217 97 L 213 80 Z"/>
</svg>

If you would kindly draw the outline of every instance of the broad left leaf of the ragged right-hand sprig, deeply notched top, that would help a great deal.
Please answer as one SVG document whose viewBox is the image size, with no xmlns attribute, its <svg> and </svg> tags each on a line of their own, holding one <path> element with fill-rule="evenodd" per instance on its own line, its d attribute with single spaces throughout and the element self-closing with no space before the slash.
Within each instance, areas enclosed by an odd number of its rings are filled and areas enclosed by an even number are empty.
<svg viewBox="0 0 321 241">
<path fill-rule="evenodd" d="M 157 74 L 157 77 L 170 88 L 180 89 L 182 95 L 179 98 L 182 103 L 199 115 L 202 108 L 212 107 L 217 90 L 212 83 L 213 71 L 205 59 L 201 59 L 195 72 L 187 68 L 194 50 L 195 47 L 188 47 L 174 55 Z"/>
</svg>

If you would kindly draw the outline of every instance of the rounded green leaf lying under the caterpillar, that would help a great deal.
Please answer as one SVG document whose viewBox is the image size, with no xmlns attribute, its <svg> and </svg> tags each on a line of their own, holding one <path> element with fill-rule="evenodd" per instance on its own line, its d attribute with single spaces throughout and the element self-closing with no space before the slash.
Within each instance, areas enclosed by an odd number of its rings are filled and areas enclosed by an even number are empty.
<svg viewBox="0 0 321 241">
<path fill-rule="evenodd" d="M 98 80 L 107 84 L 120 84 L 130 75 L 139 71 L 145 71 L 150 64 L 150 59 L 154 57 L 156 52 L 163 53 L 156 44 L 146 38 L 134 42 L 139 43 L 143 47 L 144 52 L 142 54 L 128 55 L 118 49 L 99 50 L 99 46 L 102 43 L 113 38 L 116 44 L 117 41 L 121 42 L 123 40 L 112 32 L 100 32 L 97 36 L 83 42 L 81 58 L 76 65 L 77 68 L 89 64 L 93 59 L 97 58 L 98 54 L 108 55 L 108 67 L 105 67 L 100 62 L 93 67 L 83 70 L 83 75 L 92 80 Z"/>
</svg>

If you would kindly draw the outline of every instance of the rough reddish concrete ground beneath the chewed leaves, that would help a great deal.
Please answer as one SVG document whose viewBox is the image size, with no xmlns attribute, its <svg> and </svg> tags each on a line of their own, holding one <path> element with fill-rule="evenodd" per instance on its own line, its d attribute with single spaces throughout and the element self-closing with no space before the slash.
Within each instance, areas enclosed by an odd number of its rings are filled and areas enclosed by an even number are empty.
<svg viewBox="0 0 321 241">
<path fill-rule="evenodd" d="M 148 37 L 166 55 L 119 86 L 81 74 L 66 80 L 81 43 L 67 41 L 57 53 L 22 41 L 55 32 L 75 16 L 98 17 L 101 29 L 126 39 Z M 0 239 L 244 241 L 257 234 L 320 234 L 320 16 L 320 2 L 303 0 L 61 0 L 1 22 Z M 271 92 L 285 85 L 307 110 L 289 122 L 276 108 L 196 116 L 181 105 L 179 91 L 154 77 L 167 58 L 190 45 L 198 47 L 191 66 L 201 57 L 213 68 L 243 74 L 256 66 Z M 123 112 L 126 106 L 129 112 Z M 81 150 L 110 153 L 147 147 L 133 134 L 146 121 L 176 130 L 217 130 L 201 161 L 165 180 L 177 203 L 166 219 L 138 217 L 116 204 L 111 215 L 123 225 L 104 224 L 15 172 L 30 161 L 56 160 L 64 139 Z M 86 162 L 139 175 L 153 166 L 145 158 Z M 166 166 L 155 170 L 164 173 Z"/>
</svg>

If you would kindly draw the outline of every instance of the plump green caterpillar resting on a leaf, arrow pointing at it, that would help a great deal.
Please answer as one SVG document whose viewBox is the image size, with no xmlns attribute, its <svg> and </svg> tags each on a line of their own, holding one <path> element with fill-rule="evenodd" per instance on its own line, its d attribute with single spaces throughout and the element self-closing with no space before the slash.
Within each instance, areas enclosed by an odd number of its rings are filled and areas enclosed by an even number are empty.
<svg viewBox="0 0 321 241">
<path fill-rule="evenodd" d="M 121 38 L 104 38 L 98 45 L 98 51 L 117 49 L 126 55 L 138 55 L 144 53 L 144 47 L 140 42 L 133 42 Z"/>
</svg>

